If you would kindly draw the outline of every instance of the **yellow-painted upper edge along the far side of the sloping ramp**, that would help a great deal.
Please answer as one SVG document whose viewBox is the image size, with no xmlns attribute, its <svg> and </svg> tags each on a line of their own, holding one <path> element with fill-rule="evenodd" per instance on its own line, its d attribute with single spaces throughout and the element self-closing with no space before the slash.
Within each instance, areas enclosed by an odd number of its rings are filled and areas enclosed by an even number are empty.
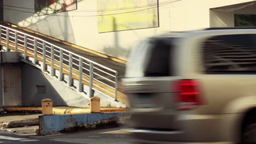
<svg viewBox="0 0 256 144">
<path fill-rule="evenodd" d="M 32 31 L 32 30 L 30 30 L 30 29 L 26 29 L 26 28 L 23 28 L 23 27 L 14 25 L 13 23 L 10 23 L 10 22 L 2 22 L 2 23 L 5 23 L 5 24 L 7 24 L 7 25 L 9 25 L 9 26 L 11 26 L 11 27 L 15 27 L 15 28 L 22 29 L 23 31 L 26 31 L 26 32 L 30 32 L 30 33 L 33 33 L 33 34 L 40 35 L 40 36 L 42 36 L 42 37 L 44 37 L 44 38 L 48 38 L 48 39 L 57 41 L 57 42 L 59 42 L 59 43 L 62 43 L 62 44 L 68 45 L 68 46 L 75 47 L 75 48 L 77 48 L 77 49 L 79 49 L 79 50 L 83 50 L 83 51 L 86 51 L 86 52 L 93 53 L 94 55 L 101 56 L 101 57 L 110 59 L 110 60 L 115 61 L 115 62 L 119 62 L 119 63 L 123 63 L 123 64 L 126 64 L 126 63 L 127 63 L 126 61 L 124 61 L 124 60 L 122 60 L 122 59 L 115 58 L 115 57 L 112 57 L 112 56 L 108 56 L 108 55 L 105 55 L 105 54 L 103 54 L 103 53 L 100 53 L 100 52 L 96 52 L 96 51 L 87 49 L 87 48 L 82 47 L 82 46 L 78 46 L 78 45 L 75 45 L 75 44 L 71 44 L 71 43 L 68 43 L 67 41 L 63 41 L 63 40 L 60 40 L 60 39 L 56 39 L 56 38 L 50 37 L 49 35 L 45 35 L 45 34 L 42 34 L 42 33 L 39 33 L 39 32 Z"/>
</svg>

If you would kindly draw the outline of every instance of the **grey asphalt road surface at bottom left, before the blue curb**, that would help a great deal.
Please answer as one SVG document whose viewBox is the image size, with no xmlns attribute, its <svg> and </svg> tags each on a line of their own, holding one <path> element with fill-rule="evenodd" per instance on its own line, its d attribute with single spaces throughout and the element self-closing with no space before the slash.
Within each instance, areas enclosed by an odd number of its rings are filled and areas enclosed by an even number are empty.
<svg viewBox="0 0 256 144">
<path fill-rule="evenodd" d="M 127 135 L 125 128 L 110 128 L 92 131 L 80 131 L 77 133 L 61 134 L 53 136 L 17 136 L 4 131 L 0 131 L 0 143 L 7 144 L 128 144 L 133 143 L 131 137 Z"/>
</svg>

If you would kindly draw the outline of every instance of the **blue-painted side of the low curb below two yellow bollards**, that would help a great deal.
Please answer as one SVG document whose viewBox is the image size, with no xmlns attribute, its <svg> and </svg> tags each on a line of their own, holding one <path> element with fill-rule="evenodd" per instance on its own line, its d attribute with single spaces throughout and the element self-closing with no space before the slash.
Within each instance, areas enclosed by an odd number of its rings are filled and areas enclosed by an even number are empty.
<svg viewBox="0 0 256 144">
<path fill-rule="evenodd" d="M 39 130 L 40 134 L 44 135 L 53 131 L 61 131 L 65 128 L 77 127 L 80 125 L 91 124 L 97 121 L 122 116 L 123 114 L 123 112 L 118 112 L 39 116 Z"/>
</svg>

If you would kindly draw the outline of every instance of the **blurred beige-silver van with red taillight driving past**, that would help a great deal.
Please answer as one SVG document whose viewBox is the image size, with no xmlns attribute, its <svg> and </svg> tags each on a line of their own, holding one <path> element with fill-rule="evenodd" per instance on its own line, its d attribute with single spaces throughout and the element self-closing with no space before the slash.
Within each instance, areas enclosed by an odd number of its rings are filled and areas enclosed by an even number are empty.
<svg viewBox="0 0 256 144">
<path fill-rule="evenodd" d="M 256 29 L 143 40 L 123 85 L 140 143 L 256 143 Z"/>
</svg>

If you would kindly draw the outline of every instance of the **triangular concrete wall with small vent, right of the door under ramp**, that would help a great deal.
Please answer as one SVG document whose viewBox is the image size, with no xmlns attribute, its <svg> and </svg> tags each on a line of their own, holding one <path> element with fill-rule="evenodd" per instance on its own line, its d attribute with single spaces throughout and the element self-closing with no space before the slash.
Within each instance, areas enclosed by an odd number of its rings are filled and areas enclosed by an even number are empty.
<svg viewBox="0 0 256 144">
<path fill-rule="evenodd" d="M 42 99 L 50 98 L 54 106 L 89 107 L 88 99 L 30 64 L 22 65 L 21 81 L 23 106 L 41 106 Z M 45 86 L 45 93 L 37 93 L 36 86 Z"/>
</svg>

